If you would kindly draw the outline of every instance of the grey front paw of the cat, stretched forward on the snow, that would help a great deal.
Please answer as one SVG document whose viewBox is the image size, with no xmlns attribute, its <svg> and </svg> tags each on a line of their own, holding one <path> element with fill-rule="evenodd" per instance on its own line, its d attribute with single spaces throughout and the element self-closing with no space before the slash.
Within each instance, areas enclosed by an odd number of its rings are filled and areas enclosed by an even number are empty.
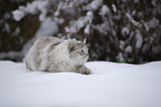
<svg viewBox="0 0 161 107">
<path fill-rule="evenodd" d="M 92 74 L 92 72 L 88 67 L 85 67 L 84 65 L 77 66 L 76 72 L 80 73 L 80 74 L 85 74 L 85 75 Z"/>
</svg>

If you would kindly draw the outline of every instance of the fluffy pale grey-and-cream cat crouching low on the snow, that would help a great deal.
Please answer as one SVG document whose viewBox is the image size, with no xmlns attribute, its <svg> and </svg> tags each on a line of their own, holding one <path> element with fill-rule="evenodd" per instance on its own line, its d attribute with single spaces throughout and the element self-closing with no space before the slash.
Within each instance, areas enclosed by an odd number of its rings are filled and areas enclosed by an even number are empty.
<svg viewBox="0 0 161 107">
<path fill-rule="evenodd" d="M 83 64 L 89 57 L 84 42 L 53 36 L 39 38 L 23 62 L 30 71 L 77 72 L 91 74 Z"/>
</svg>

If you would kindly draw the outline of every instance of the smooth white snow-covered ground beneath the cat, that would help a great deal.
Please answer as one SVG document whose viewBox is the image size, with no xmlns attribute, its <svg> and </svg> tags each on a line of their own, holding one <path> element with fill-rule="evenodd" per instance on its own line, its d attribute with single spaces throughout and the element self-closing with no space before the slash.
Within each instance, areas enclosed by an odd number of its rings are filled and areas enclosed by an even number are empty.
<svg viewBox="0 0 161 107">
<path fill-rule="evenodd" d="M 85 65 L 92 75 L 30 72 L 0 61 L 0 107 L 161 107 L 161 61 Z"/>
</svg>

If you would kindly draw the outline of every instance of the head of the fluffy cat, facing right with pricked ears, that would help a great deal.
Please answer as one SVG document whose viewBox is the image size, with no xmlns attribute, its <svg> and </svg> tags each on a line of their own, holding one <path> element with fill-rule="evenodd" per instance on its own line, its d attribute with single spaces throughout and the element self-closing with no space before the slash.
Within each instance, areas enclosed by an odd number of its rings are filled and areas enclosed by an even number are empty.
<svg viewBox="0 0 161 107">
<path fill-rule="evenodd" d="M 71 40 L 69 44 L 69 55 L 73 60 L 78 60 L 81 62 L 87 62 L 89 57 L 88 47 L 85 45 L 85 40 L 83 42 L 77 41 L 76 39 Z"/>
</svg>

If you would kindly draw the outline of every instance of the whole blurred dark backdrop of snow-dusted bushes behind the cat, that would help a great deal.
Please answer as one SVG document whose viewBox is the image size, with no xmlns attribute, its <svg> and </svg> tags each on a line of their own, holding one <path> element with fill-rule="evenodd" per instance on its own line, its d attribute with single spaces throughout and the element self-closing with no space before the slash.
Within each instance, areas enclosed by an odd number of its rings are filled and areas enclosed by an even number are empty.
<svg viewBox="0 0 161 107">
<path fill-rule="evenodd" d="M 38 36 L 87 38 L 89 61 L 160 61 L 161 0 L 0 0 L 0 60 L 21 62 Z"/>
</svg>

